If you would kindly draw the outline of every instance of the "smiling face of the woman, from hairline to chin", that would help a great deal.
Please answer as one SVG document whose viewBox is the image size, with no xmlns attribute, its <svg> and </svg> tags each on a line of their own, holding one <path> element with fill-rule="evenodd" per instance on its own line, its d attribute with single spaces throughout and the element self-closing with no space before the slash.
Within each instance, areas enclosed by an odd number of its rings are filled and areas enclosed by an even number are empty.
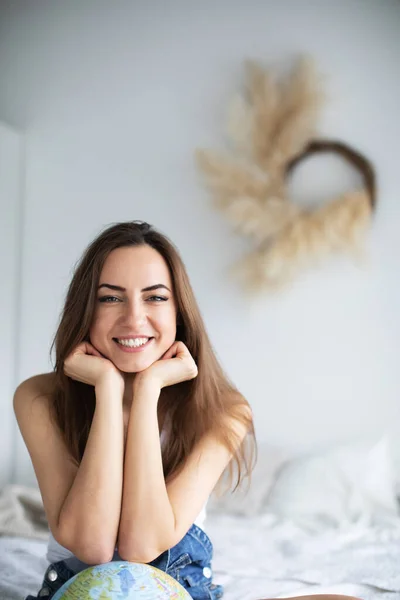
<svg viewBox="0 0 400 600">
<path fill-rule="evenodd" d="M 164 258 L 151 246 L 117 248 L 100 274 L 90 341 L 124 373 L 144 371 L 172 346 L 176 302 Z"/>
</svg>

